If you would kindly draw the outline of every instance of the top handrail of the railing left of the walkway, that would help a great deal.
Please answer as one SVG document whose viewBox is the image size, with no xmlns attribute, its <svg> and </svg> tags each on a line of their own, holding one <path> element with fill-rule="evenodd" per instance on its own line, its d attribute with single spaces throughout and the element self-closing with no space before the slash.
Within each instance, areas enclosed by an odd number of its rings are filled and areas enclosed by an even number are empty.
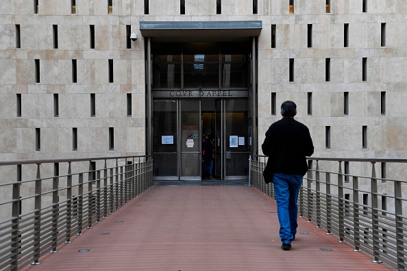
<svg viewBox="0 0 407 271">
<path fill-rule="evenodd" d="M 47 163 L 100 161 L 100 160 L 114 160 L 114 159 L 126 159 L 126 158 L 138 158 L 138 157 L 152 157 L 152 155 L 128 155 L 128 156 L 60 158 L 60 159 L 0 160 L 0 166 L 14 166 L 14 165 L 24 165 L 24 164 L 47 164 Z"/>
</svg>

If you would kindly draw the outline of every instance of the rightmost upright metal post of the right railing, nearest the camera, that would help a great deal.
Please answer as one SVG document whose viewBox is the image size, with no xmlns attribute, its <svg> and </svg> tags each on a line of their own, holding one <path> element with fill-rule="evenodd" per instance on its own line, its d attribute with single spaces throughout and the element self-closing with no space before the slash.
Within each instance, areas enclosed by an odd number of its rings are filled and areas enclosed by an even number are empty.
<svg viewBox="0 0 407 271">
<path fill-rule="evenodd" d="M 403 195 L 402 195 L 402 182 L 394 181 L 394 201 L 395 201 L 395 231 L 396 231 L 396 248 L 397 248 L 397 269 L 404 270 L 406 266 L 406 257 L 404 255 L 404 248 L 406 243 L 404 241 L 404 218 L 403 218 Z"/>
</svg>

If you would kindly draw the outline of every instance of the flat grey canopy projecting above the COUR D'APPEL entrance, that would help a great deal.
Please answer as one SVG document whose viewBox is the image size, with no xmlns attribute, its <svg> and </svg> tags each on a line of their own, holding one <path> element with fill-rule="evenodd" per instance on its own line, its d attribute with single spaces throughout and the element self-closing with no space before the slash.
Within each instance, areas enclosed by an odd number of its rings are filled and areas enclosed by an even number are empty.
<svg viewBox="0 0 407 271">
<path fill-rule="evenodd" d="M 262 21 L 141 21 L 140 31 L 159 41 L 236 41 L 260 36 Z"/>
</svg>

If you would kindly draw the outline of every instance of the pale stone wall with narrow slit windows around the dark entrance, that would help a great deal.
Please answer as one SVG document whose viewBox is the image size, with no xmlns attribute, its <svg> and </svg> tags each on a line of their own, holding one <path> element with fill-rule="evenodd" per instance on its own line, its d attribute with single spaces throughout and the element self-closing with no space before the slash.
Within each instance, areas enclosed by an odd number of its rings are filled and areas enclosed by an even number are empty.
<svg viewBox="0 0 407 271">
<path fill-rule="evenodd" d="M 362 0 L 330 1 L 327 13 L 326 0 L 294 0 L 293 14 L 288 0 L 254 2 L 257 14 L 249 0 L 222 0 L 217 14 L 216 0 L 185 0 L 185 14 L 180 14 L 179 0 L 113 0 L 109 14 L 108 0 L 88 0 L 76 1 L 72 14 L 71 1 L 38 0 L 34 14 L 35 0 L 2 1 L 0 159 L 145 154 L 145 42 L 139 22 L 246 20 L 262 21 L 263 27 L 258 37 L 259 145 L 271 122 L 280 118 L 279 105 L 291 99 L 298 105 L 297 120 L 310 127 L 314 156 L 406 157 L 407 1 L 366 1 L 365 12 Z M 58 27 L 58 49 L 53 48 L 53 25 Z M 95 49 L 90 49 L 90 25 L 95 26 Z M 138 34 L 131 49 L 127 49 L 126 25 Z M 308 25 L 312 25 L 311 35 Z M 327 58 L 329 81 L 325 79 Z M 294 61 L 291 71 L 290 59 Z M 72 60 L 77 60 L 76 83 Z M 112 83 L 108 60 L 113 60 Z M 95 116 L 90 116 L 91 93 Z M 308 114 L 310 93 L 312 112 Z M 17 94 L 21 94 L 21 116 L 16 114 Z M 58 117 L 53 94 L 58 94 Z M 127 94 L 132 94 L 131 116 L 127 116 Z M 74 127 L 77 151 L 72 147 Z M 112 151 L 109 127 L 114 127 Z M 36 128 L 40 128 L 40 151 L 36 151 Z"/>
</svg>

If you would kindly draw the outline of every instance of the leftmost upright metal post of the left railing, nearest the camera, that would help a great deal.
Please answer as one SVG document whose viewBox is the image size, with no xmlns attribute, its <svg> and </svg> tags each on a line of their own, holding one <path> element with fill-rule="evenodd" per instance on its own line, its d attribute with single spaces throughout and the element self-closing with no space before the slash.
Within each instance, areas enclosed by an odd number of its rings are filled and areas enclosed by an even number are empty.
<svg viewBox="0 0 407 271">
<path fill-rule="evenodd" d="M 19 243 L 20 243 L 20 233 L 19 233 L 19 226 L 20 226 L 20 206 L 21 206 L 21 200 L 20 200 L 20 186 L 21 183 L 19 183 L 21 179 L 20 175 L 20 170 L 18 170 L 17 166 L 17 181 L 13 183 L 13 188 L 12 188 L 12 250 L 11 250 L 11 270 L 16 271 L 18 270 L 18 253 L 19 253 Z"/>
</svg>

